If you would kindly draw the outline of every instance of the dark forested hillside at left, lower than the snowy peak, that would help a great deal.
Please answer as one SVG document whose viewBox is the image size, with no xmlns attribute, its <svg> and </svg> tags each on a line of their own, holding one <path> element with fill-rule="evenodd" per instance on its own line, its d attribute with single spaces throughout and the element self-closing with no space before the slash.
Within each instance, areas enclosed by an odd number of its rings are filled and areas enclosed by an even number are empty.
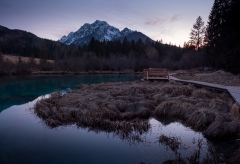
<svg viewBox="0 0 240 164">
<path fill-rule="evenodd" d="M 70 49 L 66 44 L 0 25 L 0 52 L 4 54 L 54 59 L 61 58 Z"/>
</svg>

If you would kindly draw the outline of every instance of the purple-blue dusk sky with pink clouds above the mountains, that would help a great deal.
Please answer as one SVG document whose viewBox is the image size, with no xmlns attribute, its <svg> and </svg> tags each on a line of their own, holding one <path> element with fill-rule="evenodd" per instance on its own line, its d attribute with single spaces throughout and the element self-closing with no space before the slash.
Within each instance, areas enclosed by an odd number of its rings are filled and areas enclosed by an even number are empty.
<svg viewBox="0 0 240 164">
<path fill-rule="evenodd" d="M 198 16 L 205 24 L 214 0 L 0 0 L 0 25 L 58 40 L 84 23 L 107 21 L 153 40 L 183 45 Z"/>
</svg>

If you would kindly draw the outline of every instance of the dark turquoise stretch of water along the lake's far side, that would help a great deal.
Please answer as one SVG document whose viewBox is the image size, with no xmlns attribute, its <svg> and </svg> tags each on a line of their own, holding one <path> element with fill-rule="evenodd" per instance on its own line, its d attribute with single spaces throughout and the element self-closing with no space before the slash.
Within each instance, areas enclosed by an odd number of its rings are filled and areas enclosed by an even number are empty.
<svg viewBox="0 0 240 164">
<path fill-rule="evenodd" d="M 141 76 L 95 75 L 95 76 L 13 76 L 0 77 L 0 112 L 12 105 L 33 101 L 38 96 L 80 84 L 105 81 L 132 81 Z"/>
</svg>

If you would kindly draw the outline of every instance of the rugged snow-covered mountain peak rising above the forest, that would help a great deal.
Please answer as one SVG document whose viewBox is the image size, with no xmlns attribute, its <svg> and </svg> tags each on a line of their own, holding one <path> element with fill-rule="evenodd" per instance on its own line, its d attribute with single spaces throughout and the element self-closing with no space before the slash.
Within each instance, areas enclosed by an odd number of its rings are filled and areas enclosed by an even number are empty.
<svg viewBox="0 0 240 164">
<path fill-rule="evenodd" d="M 133 31 L 128 28 L 124 28 L 120 31 L 118 28 L 109 25 L 106 21 L 95 21 L 92 24 L 86 23 L 79 28 L 76 32 L 70 32 L 67 36 L 63 36 L 59 41 L 67 45 L 87 45 L 90 40 L 94 37 L 95 40 L 113 41 L 127 38 L 128 41 L 137 41 L 142 39 L 145 42 L 147 39 L 151 40 L 148 36 L 141 32 Z"/>
</svg>

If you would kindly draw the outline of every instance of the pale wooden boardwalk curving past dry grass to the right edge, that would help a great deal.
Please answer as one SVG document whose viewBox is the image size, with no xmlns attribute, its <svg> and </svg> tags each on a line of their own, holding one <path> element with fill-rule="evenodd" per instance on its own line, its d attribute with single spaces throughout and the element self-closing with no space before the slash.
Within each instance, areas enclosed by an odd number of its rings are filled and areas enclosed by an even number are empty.
<svg viewBox="0 0 240 164">
<path fill-rule="evenodd" d="M 182 80 L 182 79 L 175 78 L 173 76 L 170 76 L 170 80 L 179 81 L 187 84 L 194 84 L 194 85 L 198 85 L 198 86 L 202 86 L 202 87 L 206 87 L 206 88 L 214 89 L 218 91 L 229 92 L 230 95 L 233 97 L 233 99 L 237 102 L 237 104 L 240 105 L 240 86 L 224 86 L 220 84 L 213 84 L 213 83 L 207 83 L 202 81 Z"/>
</svg>

